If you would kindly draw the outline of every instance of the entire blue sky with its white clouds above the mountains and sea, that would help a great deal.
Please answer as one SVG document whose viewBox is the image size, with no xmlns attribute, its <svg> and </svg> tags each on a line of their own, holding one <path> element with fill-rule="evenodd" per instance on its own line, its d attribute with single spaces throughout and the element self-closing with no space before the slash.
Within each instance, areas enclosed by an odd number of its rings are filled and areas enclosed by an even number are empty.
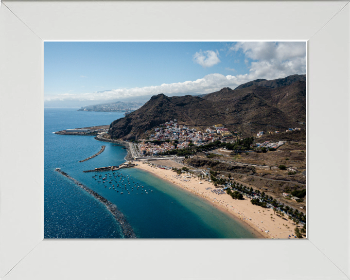
<svg viewBox="0 0 350 280">
<path fill-rule="evenodd" d="M 209 93 L 305 73 L 305 42 L 44 43 L 47 104 Z"/>
</svg>

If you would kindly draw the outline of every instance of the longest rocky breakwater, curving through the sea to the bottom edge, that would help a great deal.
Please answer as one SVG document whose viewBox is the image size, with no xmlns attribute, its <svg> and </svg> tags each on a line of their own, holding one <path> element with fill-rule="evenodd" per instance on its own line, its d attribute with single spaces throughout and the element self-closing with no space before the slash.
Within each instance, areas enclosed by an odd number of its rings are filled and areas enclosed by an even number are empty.
<svg viewBox="0 0 350 280">
<path fill-rule="evenodd" d="M 74 178 L 70 177 L 67 173 L 63 172 L 60 168 L 56 168 L 55 171 L 60 173 L 61 175 L 67 177 L 71 181 L 73 181 L 76 185 L 81 187 L 86 192 L 90 193 L 92 196 L 94 196 L 96 199 L 98 199 L 101 203 L 105 205 L 105 207 L 112 213 L 114 218 L 118 221 L 120 226 L 122 227 L 123 235 L 125 238 L 137 238 L 135 235 L 135 232 L 133 228 L 130 226 L 130 224 L 127 222 L 124 214 L 118 210 L 117 206 L 115 206 L 113 203 L 105 199 L 105 197 L 101 196 L 97 192 L 92 191 L 87 186 L 83 185 L 82 183 L 78 182 Z"/>
</svg>

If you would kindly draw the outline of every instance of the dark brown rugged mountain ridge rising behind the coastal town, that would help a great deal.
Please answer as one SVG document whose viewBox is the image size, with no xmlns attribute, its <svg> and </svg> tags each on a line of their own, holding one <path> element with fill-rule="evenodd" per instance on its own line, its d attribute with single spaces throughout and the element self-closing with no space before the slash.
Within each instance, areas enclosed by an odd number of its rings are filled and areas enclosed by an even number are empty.
<svg viewBox="0 0 350 280">
<path fill-rule="evenodd" d="M 203 128 L 223 123 L 230 131 L 240 131 L 243 136 L 256 135 L 261 130 L 302 127 L 296 123 L 306 121 L 306 81 L 300 76 L 272 81 L 261 79 L 248 87 L 222 88 L 203 97 L 158 94 L 138 110 L 111 123 L 108 134 L 113 138 L 137 140 L 147 130 L 173 119 L 179 124 Z"/>
</svg>

